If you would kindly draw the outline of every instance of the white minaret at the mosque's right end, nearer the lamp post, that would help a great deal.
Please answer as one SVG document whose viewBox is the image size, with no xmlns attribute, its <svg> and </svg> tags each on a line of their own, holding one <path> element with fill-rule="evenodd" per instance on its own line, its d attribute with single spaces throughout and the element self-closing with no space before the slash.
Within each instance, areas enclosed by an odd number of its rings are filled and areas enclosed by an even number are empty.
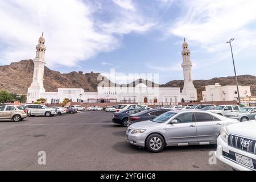
<svg viewBox="0 0 256 182">
<path fill-rule="evenodd" d="M 190 50 L 188 48 L 188 43 L 184 38 L 183 50 L 181 52 L 183 57 L 183 63 L 181 67 L 183 68 L 184 74 L 184 88 L 183 93 L 187 93 L 187 101 L 196 101 L 197 100 L 197 92 L 195 86 L 193 85 L 192 80 L 192 62 L 190 59 Z"/>
</svg>

